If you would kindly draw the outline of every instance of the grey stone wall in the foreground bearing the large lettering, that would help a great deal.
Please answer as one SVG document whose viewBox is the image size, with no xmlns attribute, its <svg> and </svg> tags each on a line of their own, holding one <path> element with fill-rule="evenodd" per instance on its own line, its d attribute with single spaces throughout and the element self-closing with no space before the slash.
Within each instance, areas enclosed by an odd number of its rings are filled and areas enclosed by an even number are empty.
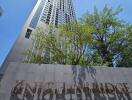
<svg viewBox="0 0 132 100">
<path fill-rule="evenodd" d="M 131 76 L 132 68 L 10 63 L 0 100 L 132 100 Z"/>
</svg>

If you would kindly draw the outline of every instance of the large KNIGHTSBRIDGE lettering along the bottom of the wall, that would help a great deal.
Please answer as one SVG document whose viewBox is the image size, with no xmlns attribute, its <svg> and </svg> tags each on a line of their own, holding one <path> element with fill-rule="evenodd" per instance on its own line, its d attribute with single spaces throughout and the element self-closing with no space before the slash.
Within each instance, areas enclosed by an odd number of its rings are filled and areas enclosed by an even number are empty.
<svg viewBox="0 0 132 100">
<path fill-rule="evenodd" d="M 128 83 L 83 83 L 16 81 L 10 100 L 132 100 Z"/>
</svg>

